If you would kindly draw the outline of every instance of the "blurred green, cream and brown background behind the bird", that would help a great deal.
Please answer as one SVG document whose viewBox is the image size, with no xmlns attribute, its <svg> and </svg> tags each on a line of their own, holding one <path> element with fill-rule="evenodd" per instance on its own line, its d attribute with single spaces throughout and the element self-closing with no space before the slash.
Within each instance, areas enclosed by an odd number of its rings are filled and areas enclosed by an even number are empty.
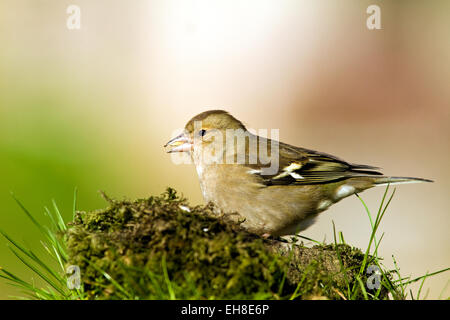
<svg viewBox="0 0 450 320">
<path fill-rule="evenodd" d="M 69 30 L 69 5 L 81 28 Z M 381 30 L 366 9 L 381 8 Z M 0 229 L 41 252 L 14 202 L 46 221 L 55 199 L 78 208 L 160 194 L 202 203 L 196 172 L 162 146 L 199 112 L 222 108 L 284 142 L 434 179 L 397 188 L 379 253 L 402 275 L 450 265 L 449 1 L 0 1 Z M 384 189 L 362 194 L 376 211 Z M 366 248 L 351 197 L 304 232 Z M 0 240 L 0 266 L 35 276 Z M 449 273 L 426 280 L 447 298 Z M 416 292 L 418 285 L 413 287 Z M 415 291 L 414 291 L 415 290 Z M 18 295 L 0 281 L 0 298 Z"/>
</svg>

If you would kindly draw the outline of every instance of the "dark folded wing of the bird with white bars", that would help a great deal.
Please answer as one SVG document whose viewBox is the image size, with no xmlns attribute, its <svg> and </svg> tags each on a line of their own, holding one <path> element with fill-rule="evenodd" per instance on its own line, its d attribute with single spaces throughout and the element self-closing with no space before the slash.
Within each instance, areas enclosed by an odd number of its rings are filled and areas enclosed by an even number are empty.
<svg viewBox="0 0 450 320">
<path fill-rule="evenodd" d="M 382 175 L 377 167 L 351 164 L 335 156 L 279 143 L 279 168 L 275 174 L 259 174 L 265 185 L 309 185 L 337 182 L 356 176 Z"/>
</svg>

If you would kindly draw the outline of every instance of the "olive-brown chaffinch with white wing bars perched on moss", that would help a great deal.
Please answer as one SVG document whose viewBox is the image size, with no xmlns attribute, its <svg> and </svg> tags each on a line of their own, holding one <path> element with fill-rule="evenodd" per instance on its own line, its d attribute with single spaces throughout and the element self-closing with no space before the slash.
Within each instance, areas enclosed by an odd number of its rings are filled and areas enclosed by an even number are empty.
<svg viewBox="0 0 450 320">
<path fill-rule="evenodd" d="M 332 204 L 374 186 L 432 182 L 257 136 L 223 110 L 196 115 L 165 147 L 191 155 L 206 202 L 264 236 L 297 234 Z"/>
</svg>

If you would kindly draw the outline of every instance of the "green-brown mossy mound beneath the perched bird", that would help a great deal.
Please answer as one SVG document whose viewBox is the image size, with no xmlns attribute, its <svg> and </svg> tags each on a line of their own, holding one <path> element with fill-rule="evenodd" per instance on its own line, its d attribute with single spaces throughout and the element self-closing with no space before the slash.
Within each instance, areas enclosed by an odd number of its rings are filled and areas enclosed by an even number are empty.
<svg viewBox="0 0 450 320">
<path fill-rule="evenodd" d="M 173 189 L 107 200 L 77 212 L 67 232 L 69 263 L 92 299 L 340 299 L 363 259 L 347 245 L 262 239 Z"/>
</svg>

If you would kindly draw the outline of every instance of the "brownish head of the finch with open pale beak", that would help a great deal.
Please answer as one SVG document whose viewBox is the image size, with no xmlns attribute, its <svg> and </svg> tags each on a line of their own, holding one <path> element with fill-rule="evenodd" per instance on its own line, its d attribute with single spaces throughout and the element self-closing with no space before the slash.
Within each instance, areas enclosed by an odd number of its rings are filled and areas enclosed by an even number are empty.
<svg viewBox="0 0 450 320">
<path fill-rule="evenodd" d="M 227 130 L 245 131 L 245 126 L 224 110 L 202 112 L 188 121 L 183 132 L 170 140 L 167 152 L 219 150 L 225 143 Z"/>
</svg>

